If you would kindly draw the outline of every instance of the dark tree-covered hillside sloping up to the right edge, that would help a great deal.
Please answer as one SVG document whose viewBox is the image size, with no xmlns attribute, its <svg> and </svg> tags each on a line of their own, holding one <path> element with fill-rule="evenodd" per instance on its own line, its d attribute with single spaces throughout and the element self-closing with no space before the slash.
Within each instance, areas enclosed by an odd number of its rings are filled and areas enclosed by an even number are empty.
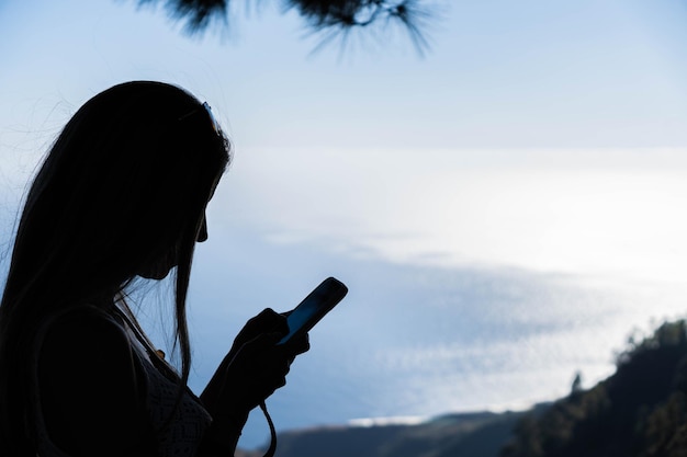
<svg viewBox="0 0 687 457">
<path fill-rule="evenodd" d="M 617 370 L 527 416 L 503 457 L 687 456 L 687 333 L 666 322 L 632 344 Z"/>
</svg>

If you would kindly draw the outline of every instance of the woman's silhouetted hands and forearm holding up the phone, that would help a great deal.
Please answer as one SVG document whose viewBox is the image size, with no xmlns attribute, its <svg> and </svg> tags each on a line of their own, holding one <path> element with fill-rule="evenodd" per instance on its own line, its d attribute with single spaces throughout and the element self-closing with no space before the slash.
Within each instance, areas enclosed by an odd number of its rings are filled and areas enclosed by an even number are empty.
<svg viewBox="0 0 687 457">
<path fill-rule="evenodd" d="M 309 349 L 307 335 L 278 345 L 288 332 L 285 316 L 271 309 L 246 323 L 201 395 L 215 420 L 245 421 L 250 410 L 286 384 L 291 363 Z"/>
</svg>

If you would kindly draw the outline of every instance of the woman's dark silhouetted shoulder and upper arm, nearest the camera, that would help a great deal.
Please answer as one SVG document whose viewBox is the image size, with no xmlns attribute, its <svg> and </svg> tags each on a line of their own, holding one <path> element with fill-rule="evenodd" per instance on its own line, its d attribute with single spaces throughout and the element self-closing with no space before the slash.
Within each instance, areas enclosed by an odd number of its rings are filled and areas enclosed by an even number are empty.
<svg viewBox="0 0 687 457">
<path fill-rule="evenodd" d="M 106 311 L 83 307 L 49 322 L 38 388 L 47 430 L 65 449 L 128 455 L 153 446 L 145 376 L 126 330 Z"/>
</svg>

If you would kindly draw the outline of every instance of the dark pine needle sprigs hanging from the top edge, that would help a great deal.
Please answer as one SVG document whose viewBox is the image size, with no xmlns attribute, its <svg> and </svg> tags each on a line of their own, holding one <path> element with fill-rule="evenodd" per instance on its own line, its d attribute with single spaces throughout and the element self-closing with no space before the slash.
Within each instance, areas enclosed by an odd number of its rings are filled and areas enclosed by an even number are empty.
<svg viewBox="0 0 687 457">
<path fill-rule="evenodd" d="M 250 0 L 245 0 L 248 3 Z M 261 0 L 252 0 L 260 2 Z M 427 23 L 432 18 L 430 0 L 279 0 L 283 11 L 295 10 L 322 43 L 341 38 L 352 31 L 399 26 L 416 49 L 427 49 Z M 185 25 L 191 34 L 203 33 L 212 23 L 228 24 L 229 7 L 237 0 L 138 0 L 139 4 L 165 3 L 170 15 Z"/>
</svg>

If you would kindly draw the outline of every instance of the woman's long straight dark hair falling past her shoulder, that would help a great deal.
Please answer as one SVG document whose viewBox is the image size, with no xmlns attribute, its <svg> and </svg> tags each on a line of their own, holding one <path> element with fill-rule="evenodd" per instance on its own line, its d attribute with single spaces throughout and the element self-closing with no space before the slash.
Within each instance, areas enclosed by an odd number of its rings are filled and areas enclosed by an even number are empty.
<svg viewBox="0 0 687 457">
<path fill-rule="evenodd" d="M 35 456 L 27 365 L 46 319 L 72 307 L 112 306 L 138 273 L 169 255 L 177 261 L 176 338 L 185 384 L 193 249 L 228 162 L 228 140 L 209 111 L 166 83 L 115 85 L 65 126 L 26 196 L 0 304 L 0 455 Z"/>
</svg>

